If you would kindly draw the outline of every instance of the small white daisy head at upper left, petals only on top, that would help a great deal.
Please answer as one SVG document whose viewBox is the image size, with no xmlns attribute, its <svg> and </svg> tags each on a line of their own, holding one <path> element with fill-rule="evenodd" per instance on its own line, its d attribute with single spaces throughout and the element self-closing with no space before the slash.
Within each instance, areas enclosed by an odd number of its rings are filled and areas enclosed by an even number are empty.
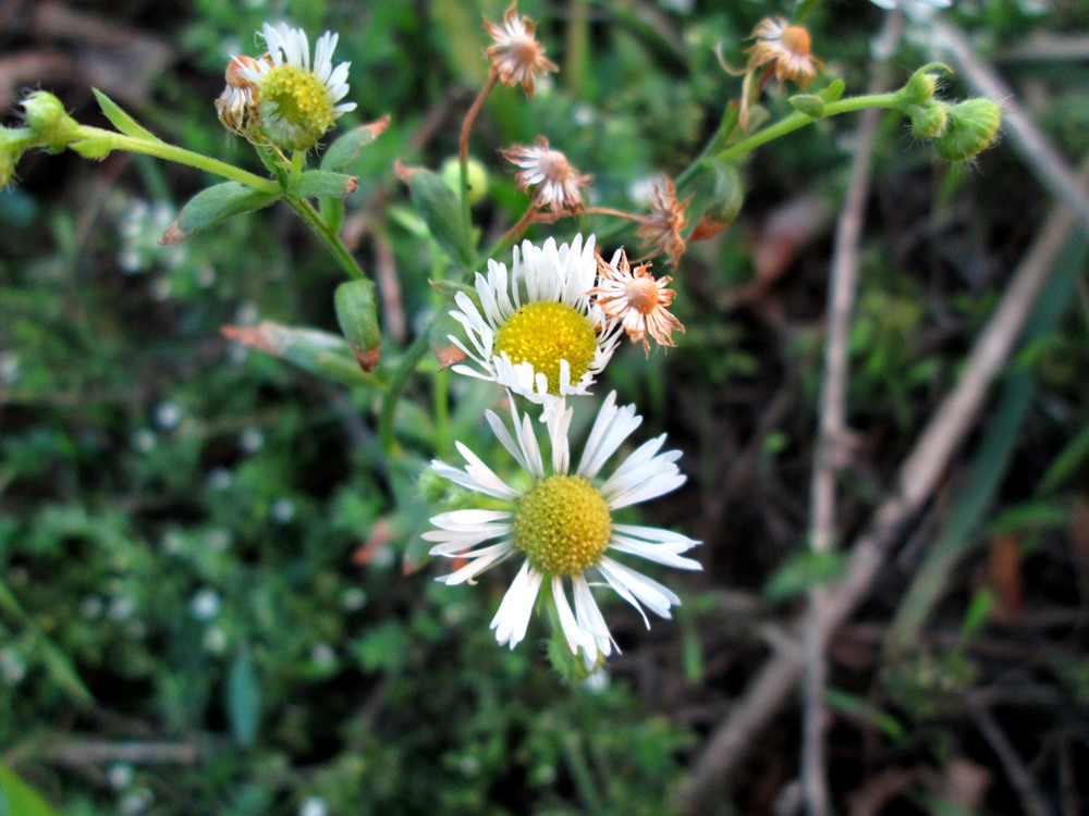
<svg viewBox="0 0 1089 816">
<path fill-rule="evenodd" d="M 286 23 L 265 24 L 261 33 L 268 55 L 241 65 L 238 74 L 257 88 L 261 132 L 284 150 L 309 150 L 337 119 L 355 110 L 347 96 L 350 62 L 333 67 L 333 49 L 340 35 L 326 32 L 318 38 L 310 64 L 310 45 L 302 28 Z"/>
</svg>

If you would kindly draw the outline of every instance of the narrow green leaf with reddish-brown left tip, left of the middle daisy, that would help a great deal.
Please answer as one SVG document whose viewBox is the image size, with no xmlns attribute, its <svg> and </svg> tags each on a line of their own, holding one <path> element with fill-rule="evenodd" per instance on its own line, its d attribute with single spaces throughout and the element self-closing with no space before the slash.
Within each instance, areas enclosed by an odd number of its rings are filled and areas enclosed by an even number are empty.
<svg viewBox="0 0 1089 816">
<path fill-rule="evenodd" d="M 341 385 L 377 384 L 374 375 L 359 369 L 352 347 L 339 335 L 271 321 L 249 326 L 225 325 L 220 332 Z"/>
</svg>

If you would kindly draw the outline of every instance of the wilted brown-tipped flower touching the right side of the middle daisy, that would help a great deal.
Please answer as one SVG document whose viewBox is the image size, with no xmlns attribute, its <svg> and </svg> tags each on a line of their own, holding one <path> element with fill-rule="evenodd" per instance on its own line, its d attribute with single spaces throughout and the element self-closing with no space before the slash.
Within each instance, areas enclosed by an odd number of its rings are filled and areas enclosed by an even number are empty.
<svg viewBox="0 0 1089 816">
<path fill-rule="evenodd" d="M 648 269 L 649 263 L 632 269 L 624 250 L 615 265 L 598 256 L 598 285 L 587 294 L 597 297 L 605 314 L 621 321 L 633 343 L 643 341 L 643 350 L 649 357 L 648 334 L 658 345 L 672 347 L 675 345 L 673 331 L 684 334 L 684 325 L 666 308 L 676 295 L 673 289 L 665 288 L 673 279 L 665 276 L 656 281 Z"/>
</svg>

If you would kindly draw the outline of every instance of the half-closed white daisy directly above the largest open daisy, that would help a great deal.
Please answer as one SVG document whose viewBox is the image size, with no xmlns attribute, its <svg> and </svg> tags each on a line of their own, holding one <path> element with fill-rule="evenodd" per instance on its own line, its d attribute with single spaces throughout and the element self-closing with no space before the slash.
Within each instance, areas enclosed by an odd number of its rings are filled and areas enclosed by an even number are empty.
<svg viewBox="0 0 1089 816">
<path fill-rule="evenodd" d="M 592 235 L 559 247 L 552 238 L 541 247 L 523 242 L 510 273 L 506 264 L 488 261 L 487 276 L 476 276 L 482 313 L 465 293 L 450 312 L 467 342 L 450 339 L 475 363 L 453 370 L 499 383 L 543 406 L 546 415 L 568 395 L 589 394 L 620 341 L 620 324 L 587 294 L 597 269 Z"/>
</svg>

